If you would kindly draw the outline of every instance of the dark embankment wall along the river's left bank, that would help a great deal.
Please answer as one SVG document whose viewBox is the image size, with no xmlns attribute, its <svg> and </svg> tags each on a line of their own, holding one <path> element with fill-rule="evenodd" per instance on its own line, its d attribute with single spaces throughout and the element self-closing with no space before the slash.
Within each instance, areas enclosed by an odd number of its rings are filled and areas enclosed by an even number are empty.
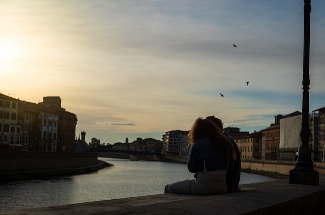
<svg viewBox="0 0 325 215">
<path fill-rule="evenodd" d="M 96 153 L 0 153 L 0 181 L 85 174 L 108 167 Z"/>
</svg>

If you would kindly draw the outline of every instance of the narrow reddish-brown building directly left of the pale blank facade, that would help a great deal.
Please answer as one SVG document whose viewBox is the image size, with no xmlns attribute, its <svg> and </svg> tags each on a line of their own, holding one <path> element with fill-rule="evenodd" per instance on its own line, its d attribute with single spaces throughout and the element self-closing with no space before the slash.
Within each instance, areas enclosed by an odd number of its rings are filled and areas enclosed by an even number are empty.
<svg viewBox="0 0 325 215">
<path fill-rule="evenodd" d="M 262 136 L 265 137 L 266 160 L 277 160 L 279 158 L 281 118 L 283 118 L 281 114 L 274 116 L 274 123 L 263 130 Z"/>
</svg>

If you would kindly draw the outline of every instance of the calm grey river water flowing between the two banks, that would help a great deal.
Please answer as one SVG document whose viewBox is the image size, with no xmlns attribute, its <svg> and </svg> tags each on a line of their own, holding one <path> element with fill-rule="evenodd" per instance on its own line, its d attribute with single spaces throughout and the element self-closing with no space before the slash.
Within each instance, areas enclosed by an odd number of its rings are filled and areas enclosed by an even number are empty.
<svg viewBox="0 0 325 215">
<path fill-rule="evenodd" d="M 192 179 L 186 164 L 99 158 L 113 166 L 91 174 L 0 183 L 0 211 L 163 194 Z M 276 180 L 242 172 L 240 184 Z"/>
</svg>

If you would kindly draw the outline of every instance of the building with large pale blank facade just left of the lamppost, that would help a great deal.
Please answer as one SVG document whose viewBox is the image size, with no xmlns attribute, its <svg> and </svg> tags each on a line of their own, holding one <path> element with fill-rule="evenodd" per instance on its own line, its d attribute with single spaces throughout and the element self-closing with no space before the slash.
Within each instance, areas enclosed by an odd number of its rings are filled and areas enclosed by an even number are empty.
<svg viewBox="0 0 325 215">
<path fill-rule="evenodd" d="M 280 119 L 280 160 L 297 160 L 301 146 L 302 113 L 295 111 Z"/>
</svg>

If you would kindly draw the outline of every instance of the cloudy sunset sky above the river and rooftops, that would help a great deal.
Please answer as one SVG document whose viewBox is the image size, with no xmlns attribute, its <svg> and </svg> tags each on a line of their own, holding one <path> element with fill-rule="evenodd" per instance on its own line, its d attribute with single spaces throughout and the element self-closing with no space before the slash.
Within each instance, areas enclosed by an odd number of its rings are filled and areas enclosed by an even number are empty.
<svg viewBox="0 0 325 215">
<path fill-rule="evenodd" d="M 325 106 L 325 2 L 311 6 L 310 112 Z M 59 96 L 86 142 L 161 140 L 209 115 L 259 131 L 302 110 L 303 7 L 0 0 L 0 91 L 33 103 Z"/>
</svg>

